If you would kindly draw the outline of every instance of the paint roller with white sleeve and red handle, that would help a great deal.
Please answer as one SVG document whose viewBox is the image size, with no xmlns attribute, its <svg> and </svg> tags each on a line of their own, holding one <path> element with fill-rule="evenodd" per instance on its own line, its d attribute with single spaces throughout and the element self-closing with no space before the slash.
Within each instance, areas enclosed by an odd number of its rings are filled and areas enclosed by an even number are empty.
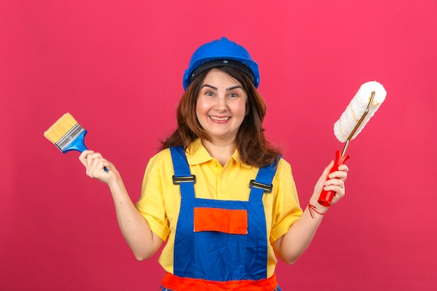
<svg viewBox="0 0 437 291">
<path fill-rule="evenodd" d="M 336 151 L 336 158 L 331 172 L 338 170 L 339 165 L 343 165 L 350 158 L 349 155 L 345 156 L 349 142 L 357 137 L 358 133 L 361 132 L 367 122 L 373 117 L 373 114 L 375 114 L 376 110 L 385 100 L 386 95 L 387 92 L 382 84 L 371 81 L 362 84 L 357 94 L 350 100 L 348 107 L 346 107 L 340 119 L 334 124 L 334 135 L 340 142 L 345 142 L 345 144 L 341 153 Z M 334 195 L 335 193 L 332 191 L 323 190 L 320 193 L 318 203 L 329 207 Z"/>
</svg>

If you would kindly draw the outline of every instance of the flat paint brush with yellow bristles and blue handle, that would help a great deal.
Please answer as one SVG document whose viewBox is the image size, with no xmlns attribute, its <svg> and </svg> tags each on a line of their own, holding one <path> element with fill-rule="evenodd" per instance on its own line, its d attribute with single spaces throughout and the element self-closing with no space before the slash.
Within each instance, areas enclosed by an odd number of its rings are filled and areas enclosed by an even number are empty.
<svg viewBox="0 0 437 291">
<path fill-rule="evenodd" d="M 84 151 L 84 138 L 87 134 L 85 130 L 70 113 L 64 114 L 49 129 L 45 130 L 44 136 L 50 140 L 63 154 L 68 151 Z M 104 168 L 105 172 L 108 169 Z"/>
</svg>

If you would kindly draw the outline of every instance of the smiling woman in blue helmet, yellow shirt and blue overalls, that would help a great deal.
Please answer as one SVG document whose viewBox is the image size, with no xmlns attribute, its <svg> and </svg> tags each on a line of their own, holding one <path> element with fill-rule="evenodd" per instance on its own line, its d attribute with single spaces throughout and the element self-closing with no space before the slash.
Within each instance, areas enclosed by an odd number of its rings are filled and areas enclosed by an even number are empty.
<svg viewBox="0 0 437 291">
<path fill-rule="evenodd" d="M 138 260 L 167 241 L 161 290 L 281 290 L 275 253 L 294 263 L 327 211 L 317 202 L 322 189 L 335 193 L 332 204 L 345 193 L 348 167 L 329 174 L 332 162 L 302 211 L 290 165 L 265 140 L 258 84 L 244 47 L 226 38 L 199 47 L 184 74 L 178 128 L 149 161 L 137 204 L 112 163 L 94 151 L 80 156 L 87 174 L 108 184 Z"/>
</svg>

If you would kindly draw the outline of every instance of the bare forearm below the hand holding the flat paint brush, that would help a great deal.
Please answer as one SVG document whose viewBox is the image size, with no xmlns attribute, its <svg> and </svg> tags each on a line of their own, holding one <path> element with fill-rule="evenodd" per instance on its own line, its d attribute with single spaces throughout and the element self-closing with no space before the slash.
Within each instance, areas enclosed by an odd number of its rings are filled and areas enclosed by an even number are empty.
<svg viewBox="0 0 437 291">
<path fill-rule="evenodd" d="M 138 260 L 150 258 L 163 241 L 151 232 L 149 224 L 136 209 L 121 179 L 110 185 L 110 191 L 121 233 L 135 258 Z"/>
</svg>

